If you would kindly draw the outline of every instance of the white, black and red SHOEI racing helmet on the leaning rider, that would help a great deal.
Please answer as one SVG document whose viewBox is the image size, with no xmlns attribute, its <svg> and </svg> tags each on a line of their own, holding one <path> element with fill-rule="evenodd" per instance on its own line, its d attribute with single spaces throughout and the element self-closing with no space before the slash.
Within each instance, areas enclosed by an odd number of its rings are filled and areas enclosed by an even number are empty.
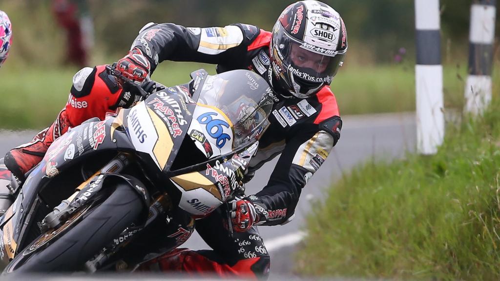
<svg viewBox="0 0 500 281">
<path fill-rule="evenodd" d="M 286 7 L 272 29 L 271 71 L 291 95 L 306 98 L 328 85 L 347 51 L 345 24 L 332 7 L 315 0 Z"/>
</svg>

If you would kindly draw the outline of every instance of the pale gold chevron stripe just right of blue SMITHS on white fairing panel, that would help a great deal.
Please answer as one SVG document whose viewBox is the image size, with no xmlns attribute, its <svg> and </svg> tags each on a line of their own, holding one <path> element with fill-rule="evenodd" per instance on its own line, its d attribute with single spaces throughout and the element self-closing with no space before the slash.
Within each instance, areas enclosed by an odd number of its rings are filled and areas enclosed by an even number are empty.
<svg viewBox="0 0 500 281">
<path fill-rule="evenodd" d="M 149 116 L 151 117 L 154 128 L 156 129 L 156 133 L 158 134 L 158 139 L 156 140 L 156 143 L 153 147 L 153 154 L 158 161 L 160 169 L 164 169 L 166 161 L 168 160 L 168 156 L 170 156 L 170 153 L 172 152 L 172 138 L 170 137 L 168 128 L 166 127 L 163 120 L 161 120 L 160 117 L 156 115 L 156 113 L 154 113 L 151 108 L 146 108 L 147 113 L 149 113 Z"/>
</svg>

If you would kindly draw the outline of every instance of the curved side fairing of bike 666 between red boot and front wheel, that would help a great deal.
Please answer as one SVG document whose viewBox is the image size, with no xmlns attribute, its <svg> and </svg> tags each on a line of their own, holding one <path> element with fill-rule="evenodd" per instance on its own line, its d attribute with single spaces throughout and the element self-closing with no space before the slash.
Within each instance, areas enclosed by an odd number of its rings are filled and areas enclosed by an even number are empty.
<svg viewBox="0 0 500 281">
<path fill-rule="evenodd" d="M 0 256 L 5 249 L 6 262 L 13 258 L 17 248 L 23 247 L 26 238 L 24 232 L 34 223 L 33 210 L 40 203 L 38 193 L 54 177 L 100 151 L 133 150 L 126 134 L 118 131 L 116 126 L 113 127 L 113 124 L 116 125 L 115 119 L 116 117 L 109 116 L 103 121 L 83 123 L 70 129 L 50 145 L 41 162 L 27 176 L 17 198 L 0 221 Z M 115 130 L 112 138 L 111 128 Z M 73 190 L 68 192 L 70 194 Z"/>
</svg>

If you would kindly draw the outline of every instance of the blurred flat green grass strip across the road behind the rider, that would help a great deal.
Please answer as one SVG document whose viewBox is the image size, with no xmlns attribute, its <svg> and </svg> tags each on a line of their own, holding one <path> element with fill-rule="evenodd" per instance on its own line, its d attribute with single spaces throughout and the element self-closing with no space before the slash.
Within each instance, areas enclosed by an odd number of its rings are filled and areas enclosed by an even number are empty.
<svg viewBox="0 0 500 281">
<path fill-rule="evenodd" d="M 201 67 L 214 73 L 214 66 L 209 64 L 164 62 L 152 78 L 166 85 L 183 83 L 191 71 Z M 462 107 L 464 82 L 457 78 L 465 76 L 462 68 L 444 67 L 446 107 Z M 51 123 L 67 100 L 77 70 L 29 68 L 7 61 L 0 68 L 0 128 L 41 128 Z M 500 84 L 500 75 L 494 77 L 494 84 Z M 415 107 L 413 65 L 347 65 L 331 88 L 343 115 L 413 111 Z"/>
</svg>

